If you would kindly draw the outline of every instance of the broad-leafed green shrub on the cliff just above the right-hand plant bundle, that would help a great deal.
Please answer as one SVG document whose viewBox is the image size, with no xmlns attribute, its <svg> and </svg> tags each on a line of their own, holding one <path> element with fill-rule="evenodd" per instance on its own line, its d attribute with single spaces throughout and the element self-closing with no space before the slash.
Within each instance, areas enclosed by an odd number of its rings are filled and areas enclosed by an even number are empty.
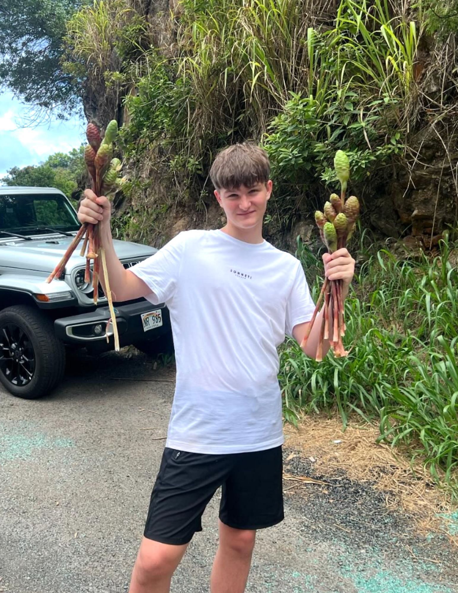
<svg viewBox="0 0 458 593">
<path fill-rule="evenodd" d="M 358 95 L 353 91 L 342 94 L 338 90 L 336 97 L 339 95 L 343 95 L 342 101 L 323 109 L 313 97 L 292 94 L 283 113 L 273 119 L 265 135 L 264 148 L 271 158 L 272 176 L 277 181 L 310 186 L 317 177 L 326 182 L 335 180 L 332 158 L 336 149 L 345 149 L 352 180 L 360 181 L 376 165 L 402 152 L 400 132 L 396 128 L 384 130 L 380 113 L 392 109 L 396 101 L 374 99 L 370 107 L 374 110 L 377 107 L 379 113 L 371 113 L 361 121 L 361 111 L 352 103 Z M 351 117 L 354 121 L 349 123 Z M 386 142 L 387 133 L 389 142 Z M 371 143 L 371 149 L 365 138 Z"/>
</svg>

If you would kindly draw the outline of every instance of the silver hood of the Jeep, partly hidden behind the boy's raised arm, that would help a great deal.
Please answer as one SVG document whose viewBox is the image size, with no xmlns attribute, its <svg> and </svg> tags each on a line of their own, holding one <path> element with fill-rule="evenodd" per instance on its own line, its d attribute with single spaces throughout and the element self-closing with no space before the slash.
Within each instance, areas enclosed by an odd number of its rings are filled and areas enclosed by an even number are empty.
<svg viewBox="0 0 458 593">
<path fill-rule="evenodd" d="M 36 272 L 50 273 L 62 259 L 72 241 L 72 237 L 46 237 L 32 241 L 8 241 L 0 245 L 0 262 L 2 267 L 12 267 Z M 157 249 L 139 243 L 113 240 L 117 257 L 120 260 L 135 260 L 156 253 Z M 85 257 L 79 255 L 82 241 L 75 249 L 65 269 L 70 273 L 75 267 L 85 265 Z"/>
</svg>

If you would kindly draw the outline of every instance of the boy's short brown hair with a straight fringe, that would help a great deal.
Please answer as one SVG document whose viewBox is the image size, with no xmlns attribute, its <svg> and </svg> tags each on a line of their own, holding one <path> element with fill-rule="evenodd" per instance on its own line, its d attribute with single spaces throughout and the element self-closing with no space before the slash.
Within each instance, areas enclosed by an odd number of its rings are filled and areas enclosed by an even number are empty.
<svg viewBox="0 0 458 593">
<path fill-rule="evenodd" d="M 233 144 L 218 153 L 210 169 L 215 189 L 236 189 L 241 185 L 252 187 L 267 183 L 271 164 L 266 151 L 256 144 Z"/>
</svg>

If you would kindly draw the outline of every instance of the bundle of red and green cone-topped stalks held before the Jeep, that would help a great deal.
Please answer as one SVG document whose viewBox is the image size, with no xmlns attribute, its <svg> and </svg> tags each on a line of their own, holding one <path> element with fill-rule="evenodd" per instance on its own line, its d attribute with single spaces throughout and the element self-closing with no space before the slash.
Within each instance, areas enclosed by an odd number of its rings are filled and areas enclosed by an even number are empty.
<svg viewBox="0 0 458 593">
<path fill-rule="evenodd" d="M 86 137 L 89 144 L 84 149 L 84 160 L 87 170 L 92 178 L 92 190 L 96 196 L 106 196 L 110 201 L 113 200 L 116 190 L 123 183 L 119 178 L 119 171 L 122 164 L 119 158 L 113 158 L 113 142 L 117 136 L 117 122 L 112 120 L 106 127 L 104 138 L 100 136 L 100 130 L 94 123 L 88 123 Z M 86 257 L 86 270 L 84 280 L 91 281 L 92 266 L 92 284 L 94 289 L 94 303 L 97 304 L 98 281 L 100 277 L 100 266 L 102 267 L 105 281 L 105 294 L 108 300 L 111 318 L 107 323 L 107 342 L 109 341 L 109 327 L 113 327 L 113 336 L 115 339 L 115 350 L 119 350 L 119 335 L 116 325 L 116 315 L 113 308 L 113 296 L 110 291 L 110 282 L 107 273 L 106 256 L 103 245 L 101 244 L 99 225 L 85 223 L 81 226 L 69 245 L 61 261 L 48 276 L 46 282 L 51 282 L 56 276 L 61 276 L 66 263 L 72 253 L 77 248 L 79 241 L 83 240 L 81 248 L 81 257 Z"/>
</svg>

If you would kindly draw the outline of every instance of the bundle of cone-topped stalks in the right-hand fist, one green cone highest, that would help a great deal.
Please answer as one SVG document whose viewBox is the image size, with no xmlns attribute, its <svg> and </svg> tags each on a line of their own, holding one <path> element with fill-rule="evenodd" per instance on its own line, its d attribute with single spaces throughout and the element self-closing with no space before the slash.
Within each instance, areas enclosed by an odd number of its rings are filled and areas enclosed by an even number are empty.
<svg viewBox="0 0 458 593">
<path fill-rule="evenodd" d="M 333 193 L 329 202 L 325 203 L 323 212 L 315 212 L 315 221 L 320 229 L 320 236 L 329 253 L 346 247 L 347 242 L 354 232 L 355 225 L 360 215 L 360 202 L 357 197 L 350 196 L 345 200 L 347 183 L 350 177 L 348 157 L 344 151 L 337 151 L 334 158 L 334 168 L 338 180 L 341 182 L 340 197 Z M 323 360 L 323 340 L 329 340 L 335 356 L 346 356 L 342 337 L 345 336 L 344 299 L 342 298 L 342 280 L 325 279 L 320 292 L 313 317 L 307 327 L 306 335 L 301 347 L 307 344 L 310 331 L 316 320 L 323 297 L 325 306 L 320 327 L 320 336 L 316 352 L 316 360 Z"/>
</svg>

